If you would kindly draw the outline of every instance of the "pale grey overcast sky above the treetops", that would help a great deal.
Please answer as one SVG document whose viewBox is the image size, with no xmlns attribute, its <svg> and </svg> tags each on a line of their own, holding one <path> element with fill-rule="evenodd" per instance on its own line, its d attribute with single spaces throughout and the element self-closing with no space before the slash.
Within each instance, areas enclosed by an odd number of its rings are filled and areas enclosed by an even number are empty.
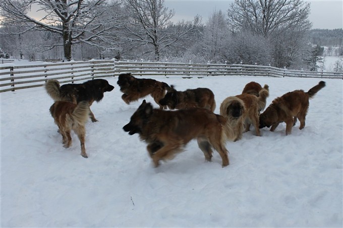
<svg viewBox="0 0 343 228">
<path fill-rule="evenodd" d="M 174 22 L 185 19 L 190 21 L 199 14 L 202 22 L 206 23 L 208 16 L 214 11 L 221 10 L 226 13 L 230 4 L 234 1 L 216 0 L 165 0 L 165 6 L 175 10 Z M 343 28 L 343 0 L 307 1 L 311 3 L 311 15 L 309 20 L 313 23 L 312 28 L 336 29 Z"/>
</svg>

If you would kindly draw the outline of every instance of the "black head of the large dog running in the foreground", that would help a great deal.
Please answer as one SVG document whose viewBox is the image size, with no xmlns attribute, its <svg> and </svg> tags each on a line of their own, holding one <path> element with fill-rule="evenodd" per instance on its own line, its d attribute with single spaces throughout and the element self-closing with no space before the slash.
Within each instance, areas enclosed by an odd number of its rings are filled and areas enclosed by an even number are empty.
<svg viewBox="0 0 343 228">
<path fill-rule="evenodd" d="M 143 100 L 142 104 L 131 116 L 130 122 L 123 127 L 123 130 L 129 132 L 130 135 L 142 133 L 145 123 L 148 121 L 153 111 L 151 103 Z"/>
</svg>

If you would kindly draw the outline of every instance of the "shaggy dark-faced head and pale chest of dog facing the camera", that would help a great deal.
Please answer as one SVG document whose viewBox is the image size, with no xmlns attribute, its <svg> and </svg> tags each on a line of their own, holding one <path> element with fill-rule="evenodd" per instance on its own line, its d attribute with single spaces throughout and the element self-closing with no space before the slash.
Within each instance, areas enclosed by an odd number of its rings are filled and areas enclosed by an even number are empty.
<svg viewBox="0 0 343 228">
<path fill-rule="evenodd" d="M 226 97 L 220 104 L 220 115 L 226 120 L 224 132 L 226 140 L 237 141 L 242 138 L 246 107 L 236 96 Z"/>
</svg>

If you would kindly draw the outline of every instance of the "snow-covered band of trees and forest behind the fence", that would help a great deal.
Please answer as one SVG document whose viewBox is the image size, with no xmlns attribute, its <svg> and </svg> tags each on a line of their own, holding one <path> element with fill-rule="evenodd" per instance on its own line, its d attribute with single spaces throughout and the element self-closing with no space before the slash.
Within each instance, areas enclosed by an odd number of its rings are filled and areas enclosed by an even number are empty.
<svg viewBox="0 0 343 228">
<path fill-rule="evenodd" d="M 0 57 L 116 58 L 316 71 L 320 56 L 343 56 L 343 29 L 311 29 L 310 3 L 303 0 L 235 0 L 206 21 L 197 15 L 178 23 L 172 22 L 175 11 L 164 1 L 1 0 Z M 44 23 L 27 15 L 32 4 L 46 12 Z M 343 57 L 335 66 L 337 71 L 343 68 Z"/>
</svg>

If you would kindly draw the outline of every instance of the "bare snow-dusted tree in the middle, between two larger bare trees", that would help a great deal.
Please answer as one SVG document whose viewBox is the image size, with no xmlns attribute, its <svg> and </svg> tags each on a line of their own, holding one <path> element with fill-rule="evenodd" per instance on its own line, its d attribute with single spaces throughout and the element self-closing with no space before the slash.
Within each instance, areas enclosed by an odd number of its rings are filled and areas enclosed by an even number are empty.
<svg viewBox="0 0 343 228">
<path fill-rule="evenodd" d="M 195 17 L 192 26 L 181 32 L 168 28 L 175 13 L 164 6 L 164 0 L 126 0 L 125 7 L 132 19 L 126 26 L 132 48 L 144 47 L 155 61 L 159 61 L 161 51 L 185 39 L 201 22 Z"/>
</svg>

